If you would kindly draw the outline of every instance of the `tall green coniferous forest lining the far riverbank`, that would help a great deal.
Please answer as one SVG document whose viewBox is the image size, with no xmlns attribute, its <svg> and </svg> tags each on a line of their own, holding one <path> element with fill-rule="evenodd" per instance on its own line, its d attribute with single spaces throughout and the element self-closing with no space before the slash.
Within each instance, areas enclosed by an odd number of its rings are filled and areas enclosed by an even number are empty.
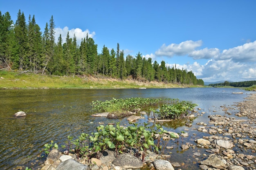
<svg viewBox="0 0 256 170">
<path fill-rule="evenodd" d="M 124 56 L 119 49 L 109 50 L 105 45 L 100 52 L 97 44 L 88 35 L 81 44 L 76 36 L 64 41 L 61 35 L 55 42 L 53 16 L 43 31 L 36 24 L 35 16 L 29 15 L 28 21 L 20 10 L 14 22 L 9 12 L 0 11 L 0 69 L 32 71 L 50 75 L 101 75 L 117 79 L 132 78 L 138 81 L 158 81 L 174 84 L 204 85 L 192 71 L 176 66 L 166 67 L 151 58 Z M 73 37 L 73 36 L 72 36 Z"/>
</svg>

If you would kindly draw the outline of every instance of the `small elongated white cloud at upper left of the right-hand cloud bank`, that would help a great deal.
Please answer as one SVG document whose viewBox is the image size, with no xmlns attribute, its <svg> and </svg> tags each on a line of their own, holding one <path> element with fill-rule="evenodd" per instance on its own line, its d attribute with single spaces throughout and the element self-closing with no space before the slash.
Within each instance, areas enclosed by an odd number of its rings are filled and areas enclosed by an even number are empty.
<svg viewBox="0 0 256 170">
<path fill-rule="evenodd" d="M 167 56 L 173 57 L 175 55 L 187 55 L 195 50 L 195 48 L 200 47 L 202 45 L 202 40 L 192 41 L 187 40 L 181 42 L 180 44 L 170 44 L 166 46 L 163 44 L 160 49 L 155 52 L 155 55 L 158 56 Z"/>
</svg>

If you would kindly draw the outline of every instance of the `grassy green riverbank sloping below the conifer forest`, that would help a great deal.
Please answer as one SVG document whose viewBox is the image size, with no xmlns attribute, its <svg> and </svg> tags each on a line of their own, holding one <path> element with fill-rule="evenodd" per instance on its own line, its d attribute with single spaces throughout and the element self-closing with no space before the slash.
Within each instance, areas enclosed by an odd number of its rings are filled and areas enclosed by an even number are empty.
<svg viewBox="0 0 256 170">
<path fill-rule="evenodd" d="M 52 76 L 14 71 L 0 71 L 0 89 L 34 88 L 183 88 L 189 85 L 162 82 L 138 82 L 133 79 L 119 80 L 102 76 Z"/>
</svg>

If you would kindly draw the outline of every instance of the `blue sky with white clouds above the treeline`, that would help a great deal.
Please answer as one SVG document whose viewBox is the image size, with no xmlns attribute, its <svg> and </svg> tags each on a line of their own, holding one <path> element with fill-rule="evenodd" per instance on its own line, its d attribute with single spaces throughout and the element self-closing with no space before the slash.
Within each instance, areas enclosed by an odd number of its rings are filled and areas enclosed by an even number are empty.
<svg viewBox="0 0 256 170">
<path fill-rule="evenodd" d="M 0 1 L 15 22 L 20 9 L 41 31 L 53 15 L 56 40 L 88 35 L 125 57 L 140 52 L 159 64 L 193 71 L 204 82 L 256 80 L 255 0 Z"/>
</svg>

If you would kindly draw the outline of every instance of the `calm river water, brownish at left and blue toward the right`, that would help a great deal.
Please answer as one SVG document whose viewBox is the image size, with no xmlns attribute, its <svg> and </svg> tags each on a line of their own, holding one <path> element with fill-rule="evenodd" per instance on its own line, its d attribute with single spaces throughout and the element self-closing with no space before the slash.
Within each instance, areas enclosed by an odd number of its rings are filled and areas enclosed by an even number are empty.
<svg viewBox="0 0 256 170">
<path fill-rule="evenodd" d="M 68 135 L 77 137 L 82 132 L 90 133 L 96 130 L 99 122 L 105 124 L 120 121 L 128 124 L 126 119 L 110 120 L 91 117 L 90 104 L 96 100 L 110 100 L 113 97 L 145 97 L 145 98 L 178 98 L 198 104 L 206 112 L 196 118 L 196 122 L 208 122 L 210 114 L 223 114 L 220 106 L 231 106 L 234 102 L 241 102 L 251 92 L 243 91 L 243 95 L 232 94 L 243 90 L 235 88 L 168 88 L 168 89 L 116 89 L 116 90 L 1 90 L 0 91 L 0 169 L 15 169 L 17 166 L 29 166 L 35 169 L 43 158 L 38 158 L 39 150 L 44 144 L 64 144 Z M 13 114 L 23 110 L 27 117 L 13 119 Z M 217 112 L 212 112 L 216 110 Z M 234 110 L 236 112 L 236 110 Z M 145 115 L 147 118 L 147 116 Z M 146 119 L 145 119 L 146 120 Z M 141 123 L 143 120 L 140 120 Z M 90 124 L 90 122 L 94 122 Z M 174 132 L 181 132 L 187 127 L 186 121 L 179 120 L 165 123 L 164 128 Z M 191 129 L 189 134 L 193 133 Z M 192 139 L 184 142 L 193 143 Z M 179 145 L 175 141 L 168 145 Z M 193 164 L 191 158 L 184 157 L 180 149 L 172 152 L 171 162 Z M 186 155 L 193 153 L 187 151 Z M 35 164 L 35 165 L 34 165 Z M 31 167 L 34 165 L 34 167 Z M 198 165 L 194 163 L 195 169 Z M 191 168 L 191 167 L 190 167 Z M 185 169 L 182 168 L 182 169 Z"/>
</svg>

